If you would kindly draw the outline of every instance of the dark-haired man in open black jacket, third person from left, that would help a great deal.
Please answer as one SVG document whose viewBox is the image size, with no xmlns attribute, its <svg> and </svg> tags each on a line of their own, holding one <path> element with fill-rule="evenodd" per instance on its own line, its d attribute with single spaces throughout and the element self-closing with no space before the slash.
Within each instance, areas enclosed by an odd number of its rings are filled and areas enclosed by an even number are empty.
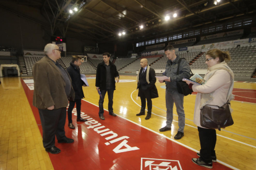
<svg viewBox="0 0 256 170">
<path fill-rule="evenodd" d="M 113 112 L 113 95 L 114 90 L 116 90 L 116 82 L 119 82 L 119 74 L 116 70 L 116 65 L 109 61 L 110 54 L 105 52 L 103 54 L 103 62 L 98 64 L 96 71 L 96 89 L 97 91 L 100 89 L 102 98 L 99 100 L 99 116 L 100 119 L 105 120 L 103 113 L 103 102 L 105 98 L 106 92 L 108 92 L 108 112 L 111 116 L 116 116 Z M 116 81 L 115 81 L 116 78 Z"/>
</svg>

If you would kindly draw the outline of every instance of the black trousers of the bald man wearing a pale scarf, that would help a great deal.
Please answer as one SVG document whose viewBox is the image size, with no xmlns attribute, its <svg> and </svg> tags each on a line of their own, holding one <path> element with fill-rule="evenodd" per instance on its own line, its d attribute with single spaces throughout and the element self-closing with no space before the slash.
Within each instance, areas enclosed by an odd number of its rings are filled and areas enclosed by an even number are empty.
<svg viewBox="0 0 256 170">
<path fill-rule="evenodd" d="M 152 100 L 151 100 L 150 90 L 143 90 L 142 88 L 139 88 L 139 91 L 140 91 L 140 101 L 142 102 L 142 108 L 140 109 L 140 112 L 145 113 L 146 99 L 147 99 L 148 115 L 151 115 Z"/>
</svg>

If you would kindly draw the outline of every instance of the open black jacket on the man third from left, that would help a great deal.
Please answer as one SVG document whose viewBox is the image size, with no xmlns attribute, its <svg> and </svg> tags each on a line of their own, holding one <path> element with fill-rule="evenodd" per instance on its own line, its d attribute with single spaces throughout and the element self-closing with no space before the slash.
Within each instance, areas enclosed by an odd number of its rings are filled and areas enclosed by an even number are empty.
<svg viewBox="0 0 256 170">
<path fill-rule="evenodd" d="M 109 61 L 110 65 L 110 75 L 111 75 L 111 89 L 116 90 L 116 80 L 115 78 L 119 78 L 119 74 L 116 70 L 116 65 L 111 63 Z M 96 87 L 100 87 L 101 90 L 106 90 L 106 67 L 105 67 L 105 62 L 101 62 L 97 66 L 97 71 L 96 71 Z"/>
</svg>

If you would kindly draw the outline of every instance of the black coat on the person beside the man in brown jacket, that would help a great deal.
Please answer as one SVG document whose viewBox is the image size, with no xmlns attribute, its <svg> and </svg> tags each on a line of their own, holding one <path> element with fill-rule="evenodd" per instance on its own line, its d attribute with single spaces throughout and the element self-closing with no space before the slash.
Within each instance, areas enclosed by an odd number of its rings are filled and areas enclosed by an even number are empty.
<svg viewBox="0 0 256 170">
<path fill-rule="evenodd" d="M 85 95 L 83 95 L 83 81 L 80 75 L 80 69 L 74 63 L 70 63 L 70 66 L 67 68 L 67 72 L 69 72 L 70 78 L 72 79 L 72 86 L 75 91 L 75 100 L 83 99 Z"/>
</svg>

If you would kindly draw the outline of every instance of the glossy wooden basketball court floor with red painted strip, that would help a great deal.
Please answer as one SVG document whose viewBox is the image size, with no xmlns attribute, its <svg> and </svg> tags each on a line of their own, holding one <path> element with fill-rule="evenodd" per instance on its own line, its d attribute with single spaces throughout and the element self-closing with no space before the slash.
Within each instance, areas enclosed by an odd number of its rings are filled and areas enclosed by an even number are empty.
<svg viewBox="0 0 256 170">
<path fill-rule="evenodd" d="M 145 116 L 136 116 L 140 111 L 136 77 L 121 75 L 121 82 L 116 84 L 114 91 L 113 108 L 117 117 L 109 116 L 106 111 L 106 120 L 101 121 L 95 75 L 87 75 L 90 86 L 83 87 L 83 118 L 104 125 L 119 138 L 108 139 L 101 129 L 76 123 L 74 114 L 75 130 L 69 129 L 67 122 L 65 127 L 66 136 L 72 137 L 74 144 L 56 142 L 61 153 L 51 155 L 43 148 L 40 118 L 32 107 L 30 84 L 25 84 L 24 78 L 0 79 L 0 170 L 207 169 L 191 161 L 191 158 L 198 158 L 196 152 L 200 150 L 197 127 L 192 121 L 195 95 L 184 98 L 185 136 L 174 140 L 178 129 L 175 107 L 171 131 L 159 132 L 166 122 L 164 84 L 156 83 L 160 97 L 153 99 L 153 114 L 145 120 Z M 256 83 L 236 82 L 233 94 L 236 95 L 236 100 L 231 102 L 234 125 L 217 131 L 218 162 L 213 163 L 213 169 L 256 169 Z M 108 110 L 107 96 L 104 108 Z"/>
</svg>

